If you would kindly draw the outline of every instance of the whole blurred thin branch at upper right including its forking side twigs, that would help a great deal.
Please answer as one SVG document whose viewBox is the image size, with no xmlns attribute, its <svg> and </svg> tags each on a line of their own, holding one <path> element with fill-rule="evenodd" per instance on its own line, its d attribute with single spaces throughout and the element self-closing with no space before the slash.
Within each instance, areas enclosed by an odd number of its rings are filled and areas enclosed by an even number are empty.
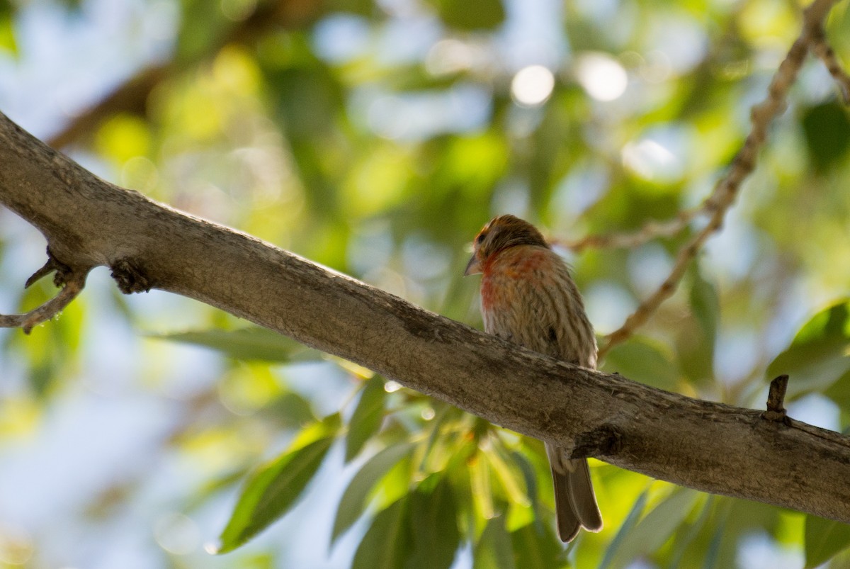
<svg viewBox="0 0 850 569">
<path fill-rule="evenodd" d="M 629 339 L 635 330 L 649 321 L 649 318 L 655 314 L 659 306 L 676 292 L 676 288 L 679 282 L 682 281 L 691 259 L 694 259 L 700 253 L 708 238 L 721 228 L 723 218 L 734 203 L 741 184 L 756 169 L 758 151 L 768 138 L 768 127 L 770 123 L 774 121 L 775 117 L 778 117 L 785 111 L 785 99 L 788 91 L 796 81 L 797 74 L 800 72 L 803 61 L 806 60 L 806 54 L 808 54 L 810 49 L 824 61 L 830 73 L 836 78 L 840 88 L 842 88 L 842 93 L 845 94 L 845 99 L 847 100 L 847 94 L 850 94 L 850 91 L 847 90 L 850 88 L 850 83 L 848 83 L 847 75 L 842 71 L 841 65 L 838 64 L 832 48 L 826 43 L 824 37 L 824 20 L 836 2 L 837 0 L 814 0 L 805 10 L 800 37 L 791 45 L 791 49 L 785 55 L 785 60 L 782 61 L 779 69 L 776 70 L 768 88 L 768 97 L 762 103 L 752 108 L 752 129 L 750 134 L 746 137 L 740 151 L 735 155 L 728 173 L 715 186 L 714 191 L 711 192 L 711 196 L 706 198 L 702 206 L 695 211 L 691 210 L 680 213 L 676 219 L 672 219 L 672 221 L 666 224 L 655 223 L 654 225 L 647 225 L 642 230 L 638 230 L 637 233 L 612 236 L 610 238 L 610 241 L 615 244 L 618 242 L 640 244 L 655 235 L 669 235 L 669 233 L 665 233 L 664 231 L 683 229 L 688 225 L 690 219 L 694 218 L 697 214 L 711 213 L 711 218 L 707 225 L 683 248 L 679 249 L 676 263 L 673 265 L 670 274 L 664 282 L 655 290 L 655 293 L 649 295 L 648 299 L 643 300 L 638 306 L 638 309 L 626 318 L 626 321 L 621 327 L 605 337 L 607 341 L 599 347 L 599 360 L 602 360 L 605 354 L 616 344 L 621 344 L 626 339 Z M 605 243 L 604 236 L 587 238 L 576 244 L 581 247 L 587 247 L 598 242 Z"/>
</svg>

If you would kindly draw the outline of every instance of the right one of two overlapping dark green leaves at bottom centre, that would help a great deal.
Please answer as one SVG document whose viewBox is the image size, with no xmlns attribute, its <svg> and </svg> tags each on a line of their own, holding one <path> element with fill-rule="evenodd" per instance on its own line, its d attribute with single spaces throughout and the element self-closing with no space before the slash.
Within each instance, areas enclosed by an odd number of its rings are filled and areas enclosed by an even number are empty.
<svg viewBox="0 0 850 569">
<path fill-rule="evenodd" d="M 428 491 L 428 482 L 438 479 Z M 457 504 L 445 476 L 432 475 L 410 498 L 412 551 L 408 566 L 450 567 L 460 545 Z"/>
</svg>

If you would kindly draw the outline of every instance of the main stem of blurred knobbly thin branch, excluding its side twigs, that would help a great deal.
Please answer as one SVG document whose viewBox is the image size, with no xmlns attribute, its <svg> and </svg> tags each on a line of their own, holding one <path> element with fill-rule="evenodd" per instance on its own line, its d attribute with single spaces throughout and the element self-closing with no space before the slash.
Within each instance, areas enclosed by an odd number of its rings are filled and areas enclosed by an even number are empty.
<svg viewBox="0 0 850 569">
<path fill-rule="evenodd" d="M 774 74 L 768 88 L 768 97 L 759 105 L 754 106 L 751 111 L 752 129 L 749 136 L 745 139 L 738 154 L 735 155 L 728 173 L 715 186 L 711 196 L 704 203 L 704 208 L 711 208 L 711 219 L 690 242 L 679 250 L 670 274 L 655 290 L 655 293 L 643 300 L 637 310 L 626 318 L 620 328 L 606 336 L 606 343 L 599 349 L 598 358 L 600 360 L 616 344 L 621 344 L 626 339 L 631 338 L 635 330 L 649 321 L 649 318 L 655 314 L 659 306 L 676 292 L 691 259 L 694 259 L 700 253 L 706 240 L 723 225 L 723 218 L 738 195 L 740 185 L 756 168 L 758 151 L 767 139 L 768 126 L 775 117 L 785 111 L 785 99 L 791 85 L 796 80 L 803 61 L 806 59 L 808 49 L 814 48 L 814 38 L 819 37 L 819 34 L 820 37 L 823 37 L 823 20 L 835 2 L 836 0 L 815 0 L 806 9 L 800 37 L 791 46 L 785 60 L 782 61 Z"/>
</svg>

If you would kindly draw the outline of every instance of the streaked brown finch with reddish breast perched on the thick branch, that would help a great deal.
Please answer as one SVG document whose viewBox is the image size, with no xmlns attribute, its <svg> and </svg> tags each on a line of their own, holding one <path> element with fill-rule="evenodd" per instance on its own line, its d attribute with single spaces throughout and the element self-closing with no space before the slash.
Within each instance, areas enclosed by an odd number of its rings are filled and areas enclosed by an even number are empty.
<svg viewBox="0 0 850 569">
<path fill-rule="evenodd" d="M 570 270 L 534 225 L 501 215 L 475 237 L 465 275 L 481 273 L 484 330 L 547 356 L 596 367 L 596 338 Z M 602 529 L 587 460 L 546 443 L 558 535 Z"/>
</svg>

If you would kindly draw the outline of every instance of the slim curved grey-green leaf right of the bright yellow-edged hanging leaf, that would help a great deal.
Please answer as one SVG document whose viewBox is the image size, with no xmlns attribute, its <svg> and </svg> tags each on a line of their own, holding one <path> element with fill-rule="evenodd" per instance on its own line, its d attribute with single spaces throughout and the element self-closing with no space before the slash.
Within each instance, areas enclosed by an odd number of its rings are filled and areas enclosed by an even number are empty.
<svg viewBox="0 0 850 569">
<path fill-rule="evenodd" d="M 383 475 L 386 475 L 402 458 L 409 457 L 412 451 L 411 443 L 384 448 L 370 458 L 354 475 L 343 492 L 343 498 L 339 501 L 337 518 L 333 522 L 331 532 L 331 543 L 336 541 L 363 514 L 366 498 L 372 488 L 381 481 Z"/>
</svg>

